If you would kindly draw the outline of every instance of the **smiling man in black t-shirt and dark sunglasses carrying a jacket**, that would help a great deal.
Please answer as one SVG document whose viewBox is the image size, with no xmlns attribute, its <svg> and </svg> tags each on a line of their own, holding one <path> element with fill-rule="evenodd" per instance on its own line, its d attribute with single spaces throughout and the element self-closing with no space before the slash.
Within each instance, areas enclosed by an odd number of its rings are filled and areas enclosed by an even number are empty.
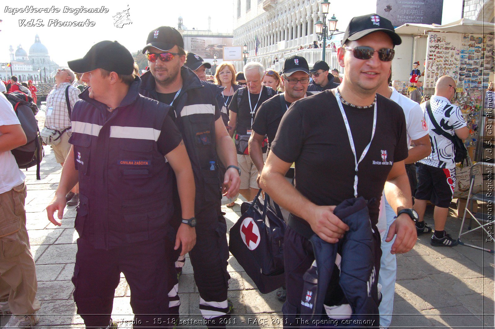
<svg viewBox="0 0 495 329">
<path fill-rule="evenodd" d="M 287 301 L 282 309 L 288 326 L 299 326 L 298 314 L 326 313 L 312 319 L 339 321 L 356 319 L 352 312 L 359 310 L 359 319 L 373 321 L 373 327 L 378 327 L 380 234 L 376 224 L 383 190 L 398 214 L 388 237 L 390 241 L 396 235 L 391 252 L 407 252 L 416 241 L 410 217 L 411 191 L 404 167 L 408 155 L 404 114 L 394 101 L 376 94 L 388 79 L 394 46 L 399 43 L 400 38 L 387 19 L 377 14 L 353 18 L 344 45 L 338 49 L 339 64 L 346 72 L 343 83 L 292 104 L 270 145 L 260 185 L 291 212 L 284 240 Z M 296 187 L 284 177 L 292 163 Z M 352 204 L 358 197 L 369 200 L 365 203 L 369 217 L 359 222 L 368 226 L 363 227 L 364 231 L 355 231 L 355 225 L 347 225 L 334 214 L 337 205 L 342 209 L 346 200 Z M 347 220 L 349 214 L 344 217 Z M 350 230 L 352 235 L 347 235 Z M 317 291 L 311 295 L 304 289 L 306 270 L 316 266 L 313 255 L 319 248 L 315 244 L 313 251 L 308 240 L 315 234 L 341 247 L 342 243 L 355 245 L 349 240 L 349 236 L 354 236 L 353 241 L 366 243 L 370 248 L 368 255 L 336 256 L 337 266 L 332 273 L 318 272 L 318 282 L 323 277 L 329 282 L 325 296 L 315 295 Z M 347 273 L 354 282 L 341 286 L 340 257 L 346 257 L 346 263 L 342 260 L 346 268 L 367 270 Z M 362 282 L 367 282 L 368 289 L 353 288 L 362 286 Z M 341 298 L 344 291 L 348 300 Z M 313 309 L 314 301 L 322 299 L 325 307 Z"/>
</svg>

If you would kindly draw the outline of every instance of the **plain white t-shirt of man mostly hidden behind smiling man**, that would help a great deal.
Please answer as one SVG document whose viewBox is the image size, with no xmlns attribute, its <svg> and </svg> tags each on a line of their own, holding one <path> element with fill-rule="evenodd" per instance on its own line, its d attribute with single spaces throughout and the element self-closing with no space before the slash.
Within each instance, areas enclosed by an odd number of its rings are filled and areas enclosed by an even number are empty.
<svg viewBox="0 0 495 329">
<path fill-rule="evenodd" d="M 418 140 L 426 135 L 428 135 L 428 127 L 425 124 L 425 119 L 423 117 L 423 111 L 418 103 L 414 100 L 407 98 L 406 96 L 397 92 L 393 87 L 390 87 L 392 90 L 392 95 L 390 99 L 395 101 L 397 104 L 402 107 L 405 116 L 405 125 L 407 131 L 407 145 L 411 144 L 412 140 Z M 378 231 L 384 237 L 387 230 L 387 218 L 392 216 L 394 217 L 394 211 L 385 211 L 391 210 L 387 199 L 385 198 L 385 193 L 382 195 L 382 200 L 380 202 L 380 214 L 378 215 Z M 390 219 L 389 219 L 390 222 Z"/>
</svg>

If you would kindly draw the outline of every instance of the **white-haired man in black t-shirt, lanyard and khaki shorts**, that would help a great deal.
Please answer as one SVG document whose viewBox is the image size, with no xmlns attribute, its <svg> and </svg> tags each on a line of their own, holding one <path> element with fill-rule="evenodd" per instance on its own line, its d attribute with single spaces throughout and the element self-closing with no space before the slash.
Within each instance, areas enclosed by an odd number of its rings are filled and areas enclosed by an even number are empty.
<svg viewBox="0 0 495 329">
<path fill-rule="evenodd" d="M 251 201 L 258 192 L 258 170 L 251 161 L 247 142 L 251 135 L 251 126 L 256 115 L 256 111 L 261 104 L 276 94 L 270 87 L 263 86 L 261 81 L 264 76 L 264 67 L 258 62 L 249 62 L 244 67 L 247 87 L 238 89 L 232 96 L 229 104 L 230 120 L 229 134 L 236 140 L 237 162 L 241 167 L 241 187 L 239 192 Z M 263 147 L 264 159 L 266 159 L 266 149 Z"/>
</svg>

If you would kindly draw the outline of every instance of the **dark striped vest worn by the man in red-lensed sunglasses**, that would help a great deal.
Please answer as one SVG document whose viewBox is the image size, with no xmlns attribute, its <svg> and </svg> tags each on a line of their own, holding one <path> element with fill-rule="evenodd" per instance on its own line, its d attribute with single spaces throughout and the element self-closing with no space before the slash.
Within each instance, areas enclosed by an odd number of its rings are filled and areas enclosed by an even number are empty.
<svg viewBox="0 0 495 329">
<path fill-rule="evenodd" d="M 195 212 L 206 207 L 220 209 L 221 190 L 218 176 L 218 158 L 215 149 L 215 86 L 200 81 L 189 68 L 181 68 L 183 87 L 173 102 L 175 125 L 191 159 L 195 183 Z M 140 93 L 157 99 L 155 80 L 148 71 L 141 76 Z M 180 206 L 175 202 L 176 206 Z M 199 223 L 198 223 L 199 224 Z"/>
</svg>

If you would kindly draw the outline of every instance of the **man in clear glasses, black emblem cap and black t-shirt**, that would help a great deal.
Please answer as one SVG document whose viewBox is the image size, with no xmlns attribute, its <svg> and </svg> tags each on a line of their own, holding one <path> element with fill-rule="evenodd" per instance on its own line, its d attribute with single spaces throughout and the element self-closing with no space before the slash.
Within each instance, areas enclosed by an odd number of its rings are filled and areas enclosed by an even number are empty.
<svg viewBox="0 0 495 329">
<path fill-rule="evenodd" d="M 275 139 L 282 116 L 289 106 L 296 100 L 311 95 L 311 93 L 306 92 L 309 83 L 309 66 L 304 57 L 292 56 L 287 58 L 282 72 L 282 84 L 285 93 L 273 96 L 261 104 L 252 124 L 253 133 L 249 138 L 249 155 L 259 173 L 263 170 L 264 165 L 261 145 L 265 135 L 268 138 L 269 149 L 271 142 Z M 259 176 L 258 174 L 258 186 Z M 286 177 L 292 181 L 294 169 L 290 168 Z M 287 221 L 285 216 L 284 219 Z"/>
</svg>

